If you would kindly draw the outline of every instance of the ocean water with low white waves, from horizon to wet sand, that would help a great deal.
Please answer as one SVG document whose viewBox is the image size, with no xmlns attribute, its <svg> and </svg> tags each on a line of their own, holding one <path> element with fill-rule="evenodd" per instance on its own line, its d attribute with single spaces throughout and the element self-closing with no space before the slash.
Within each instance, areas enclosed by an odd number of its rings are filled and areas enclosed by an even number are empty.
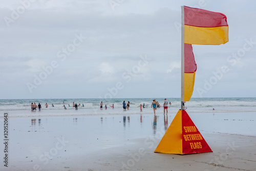
<svg viewBox="0 0 256 171">
<path fill-rule="evenodd" d="M 103 110 L 100 110 L 100 102 L 103 102 Z M 22 117 L 22 116 L 61 116 L 61 115 L 111 115 L 111 114 L 123 114 L 122 103 L 125 101 L 127 103 L 130 101 L 130 110 L 126 111 L 129 114 L 138 114 L 140 108 L 138 107 L 143 103 L 148 104 L 148 108 L 143 108 L 142 113 L 151 114 L 153 109 L 151 104 L 153 99 L 150 98 L 130 98 L 130 99 L 9 99 L 0 100 L 0 112 L 3 114 L 5 112 L 9 113 L 10 117 Z M 164 98 L 156 99 L 159 102 L 160 108 L 157 109 L 157 113 L 163 113 L 163 102 Z M 177 113 L 181 108 L 179 98 L 168 98 L 169 113 Z M 67 107 L 67 110 L 63 110 L 63 102 Z M 73 102 L 84 105 L 84 107 L 78 107 L 75 110 L 72 107 Z M 41 111 L 31 112 L 31 103 L 41 104 Z M 48 108 L 45 104 L 48 104 Z M 54 105 L 52 107 L 51 105 Z M 114 104 L 114 109 L 110 106 Z M 70 105 L 70 107 L 69 107 Z M 108 109 L 105 110 L 104 106 Z M 256 112 L 256 98 L 191 98 L 189 102 L 185 103 L 187 112 L 189 113 L 209 113 L 209 112 Z M 215 108 L 215 110 L 213 110 Z M 0 117 L 3 117 L 0 113 Z M 256 114 L 256 113 L 255 113 Z"/>
</svg>

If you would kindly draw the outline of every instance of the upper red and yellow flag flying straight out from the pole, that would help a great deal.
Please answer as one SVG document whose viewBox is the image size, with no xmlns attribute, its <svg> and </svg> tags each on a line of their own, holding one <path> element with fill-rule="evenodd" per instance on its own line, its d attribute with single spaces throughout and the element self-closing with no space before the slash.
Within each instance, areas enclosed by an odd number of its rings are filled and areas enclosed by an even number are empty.
<svg viewBox="0 0 256 171">
<path fill-rule="evenodd" d="M 184 38 L 187 44 L 219 45 L 228 42 L 226 15 L 184 6 Z"/>
</svg>

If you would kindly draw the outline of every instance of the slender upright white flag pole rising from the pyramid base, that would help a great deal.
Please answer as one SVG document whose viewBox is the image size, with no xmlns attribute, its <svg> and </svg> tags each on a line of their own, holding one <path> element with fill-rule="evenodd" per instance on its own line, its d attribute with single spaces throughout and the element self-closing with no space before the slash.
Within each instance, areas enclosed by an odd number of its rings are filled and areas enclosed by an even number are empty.
<svg viewBox="0 0 256 171">
<path fill-rule="evenodd" d="M 181 110 L 184 101 L 184 6 L 181 6 Z"/>
</svg>

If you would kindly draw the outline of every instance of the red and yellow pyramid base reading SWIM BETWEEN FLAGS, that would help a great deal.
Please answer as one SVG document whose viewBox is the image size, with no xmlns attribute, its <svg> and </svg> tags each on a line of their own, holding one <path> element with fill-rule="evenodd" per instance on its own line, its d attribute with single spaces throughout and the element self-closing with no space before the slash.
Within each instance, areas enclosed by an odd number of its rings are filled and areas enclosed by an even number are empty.
<svg viewBox="0 0 256 171">
<path fill-rule="evenodd" d="M 212 152 L 185 110 L 179 110 L 155 153 L 195 154 Z"/>
</svg>

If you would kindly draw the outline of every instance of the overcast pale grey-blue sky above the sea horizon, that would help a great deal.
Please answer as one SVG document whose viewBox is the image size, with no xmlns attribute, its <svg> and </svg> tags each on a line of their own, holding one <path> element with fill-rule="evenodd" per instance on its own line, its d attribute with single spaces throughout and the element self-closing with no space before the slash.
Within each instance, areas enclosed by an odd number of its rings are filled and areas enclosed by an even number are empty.
<svg viewBox="0 0 256 171">
<path fill-rule="evenodd" d="M 192 97 L 255 97 L 255 1 L 10 0 L 0 99 L 180 97 L 183 5 L 229 25 L 226 44 L 193 45 Z"/>
</svg>

